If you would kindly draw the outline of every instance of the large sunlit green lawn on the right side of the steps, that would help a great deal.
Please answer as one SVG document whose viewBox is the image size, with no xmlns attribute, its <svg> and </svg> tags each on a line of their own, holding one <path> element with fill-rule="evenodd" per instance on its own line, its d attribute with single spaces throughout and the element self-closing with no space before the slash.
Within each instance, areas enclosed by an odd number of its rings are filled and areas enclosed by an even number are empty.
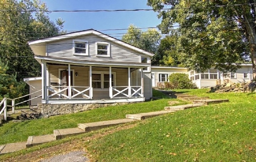
<svg viewBox="0 0 256 162">
<path fill-rule="evenodd" d="M 87 148 L 90 155 L 95 161 L 103 162 L 255 161 L 255 93 L 216 94 L 207 93 L 208 89 L 178 91 L 230 102 L 148 119 L 132 129 L 91 141 Z"/>
</svg>

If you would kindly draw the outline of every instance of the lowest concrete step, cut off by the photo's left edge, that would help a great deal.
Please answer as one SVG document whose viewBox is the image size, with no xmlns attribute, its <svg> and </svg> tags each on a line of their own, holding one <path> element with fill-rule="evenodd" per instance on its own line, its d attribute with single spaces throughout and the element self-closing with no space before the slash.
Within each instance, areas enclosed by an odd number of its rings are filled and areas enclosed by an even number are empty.
<svg viewBox="0 0 256 162">
<path fill-rule="evenodd" d="M 15 152 L 22 149 L 26 149 L 26 142 L 1 145 L 0 154 Z"/>
</svg>

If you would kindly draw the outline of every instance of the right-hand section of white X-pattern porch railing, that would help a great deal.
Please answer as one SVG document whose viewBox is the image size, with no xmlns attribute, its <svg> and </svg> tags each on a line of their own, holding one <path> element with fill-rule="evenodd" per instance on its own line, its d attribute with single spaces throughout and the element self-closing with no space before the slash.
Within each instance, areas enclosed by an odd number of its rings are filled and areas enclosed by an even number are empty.
<svg viewBox="0 0 256 162">
<path fill-rule="evenodd" d="M 143 97 L 142 86 L 112 86 L 110 87 L 110 98 Z"/>
</svg>

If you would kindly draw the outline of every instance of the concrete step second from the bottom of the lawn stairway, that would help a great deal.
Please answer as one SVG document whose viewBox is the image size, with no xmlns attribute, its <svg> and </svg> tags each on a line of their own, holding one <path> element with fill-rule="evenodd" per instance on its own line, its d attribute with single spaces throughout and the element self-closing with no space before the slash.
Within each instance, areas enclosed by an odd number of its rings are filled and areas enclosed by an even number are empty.
<svg viewBox="0 0 256 162">
<path fill-rule="evenodd" d="M 48 143 L 50 141 L 55 141 L 54 134 L 47 135 L 39 135 L 39 136 L 29 136 L 27 139 L 26 147 L 32 147 L 44 143 Z"/>
</svg>

